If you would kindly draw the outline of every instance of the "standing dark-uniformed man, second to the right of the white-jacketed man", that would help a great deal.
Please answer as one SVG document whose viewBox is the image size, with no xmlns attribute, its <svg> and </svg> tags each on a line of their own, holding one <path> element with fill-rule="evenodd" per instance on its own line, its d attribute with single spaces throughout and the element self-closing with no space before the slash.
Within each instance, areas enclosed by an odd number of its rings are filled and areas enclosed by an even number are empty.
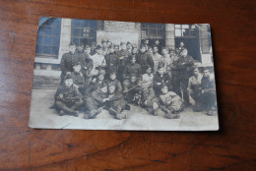
<svg viewBox="0 0 256 171">
<path fill-rule="evenodd" d="M 128 57 L 131 55 L 131 53 L 126 49 L 125 42 L 121 42 L 120 46 L 121 46 L 121 50 L 117 52 L 117 57 L 119 58 L 117 79 L 120 82 L 123 82 L 123 70 L 125 66 L 129 63 Z"/>
</svg>

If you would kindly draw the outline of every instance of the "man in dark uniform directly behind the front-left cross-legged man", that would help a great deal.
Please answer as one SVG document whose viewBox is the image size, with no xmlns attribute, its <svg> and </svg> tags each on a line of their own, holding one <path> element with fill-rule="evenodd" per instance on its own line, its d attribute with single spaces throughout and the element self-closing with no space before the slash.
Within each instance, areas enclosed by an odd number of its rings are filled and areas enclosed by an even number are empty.
<svg viewBox="0 0 256 171">
<path fill-rule="evenodd" d="M 86 88 L 86 82 L 83 74 L 81 73 L 81 65 L 80 62 L 77 61 L 73 65 L 74 71 L 71 73 L 74 79 L 74 85 L 78 85 L 78 89 L 81 93 L 84 93 Z"/>
</svg>

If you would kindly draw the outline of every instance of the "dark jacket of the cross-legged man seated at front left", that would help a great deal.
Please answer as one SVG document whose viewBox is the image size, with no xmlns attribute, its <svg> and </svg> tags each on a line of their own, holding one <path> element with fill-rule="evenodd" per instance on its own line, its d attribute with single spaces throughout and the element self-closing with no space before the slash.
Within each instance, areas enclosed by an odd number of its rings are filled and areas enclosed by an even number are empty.
<svg viewBox="0 0 256 171">
<path fill-rule="evenodd" d="M 59 95 L 62 94 L 63 98 L 59 98 Z M 62 100 L 62 101 L 76 101 L 82 99 L 82 94 L 78 90 L 77 86 L 71 85 L 70 87 L 66 87 L 65 85 L 60 85 L 54 95 L 54 99 Z"/>
</svg>

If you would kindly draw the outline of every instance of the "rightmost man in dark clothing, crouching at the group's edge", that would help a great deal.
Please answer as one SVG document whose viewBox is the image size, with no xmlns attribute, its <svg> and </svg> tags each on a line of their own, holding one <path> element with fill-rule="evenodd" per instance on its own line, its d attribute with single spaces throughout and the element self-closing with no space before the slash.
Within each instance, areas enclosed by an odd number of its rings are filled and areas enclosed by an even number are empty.
<svg viewBox="0 0 256 171">
<path fill-rule="evenodd" d="M 204 71 L 203 78 L 201 80 L 201 88 L 202 91 L 199 95 L 199 99 L 203 105 L 203 110 L 205 110 L 207 115 L 212 116 L 212 108 L 216 104 L 216 88 L 215 79 L 210 76 L 209 70 Z"/>
</svg>

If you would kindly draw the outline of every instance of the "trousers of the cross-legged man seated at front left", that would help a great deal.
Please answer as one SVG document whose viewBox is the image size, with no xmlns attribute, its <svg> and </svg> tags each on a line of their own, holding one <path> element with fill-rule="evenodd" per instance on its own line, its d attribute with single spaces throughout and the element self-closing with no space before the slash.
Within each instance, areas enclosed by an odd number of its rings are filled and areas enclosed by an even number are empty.
<svg viewBox="0 0 256 171">
<path fill-rule="evenodd" d="M 67 113 L 73 113 L 74 110 L 78 110 L 81 106 L 83 106 L 84 102 L 82 99 L 78 101 L 70 101 L 70 102 L 64 102 L 60 100 L 55 101 L 55 108 L 57 111 L 63 110 Z"/>
</svg>

